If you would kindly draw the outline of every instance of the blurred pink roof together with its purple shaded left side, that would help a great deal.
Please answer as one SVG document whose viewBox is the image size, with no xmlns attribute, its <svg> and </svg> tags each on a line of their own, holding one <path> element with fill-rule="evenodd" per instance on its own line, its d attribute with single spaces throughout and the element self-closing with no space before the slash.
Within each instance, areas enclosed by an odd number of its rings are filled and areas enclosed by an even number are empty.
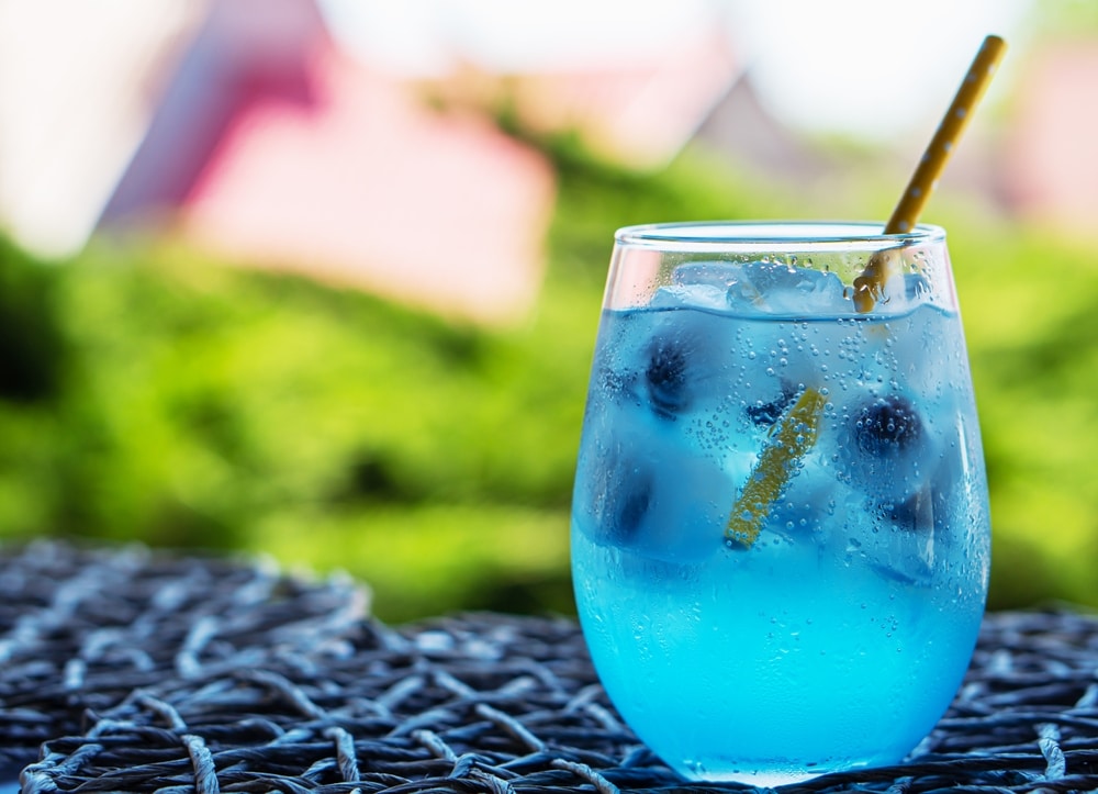
<svg viewBox="0 0 1098 794">
<path fill-rule="evenodd" d="M 343 55 L 311 0 L 234 0 L 212 5 L 99 225 L 167 223 L 242 265 L 506 322 L 537 297 L 553 198 L 540 154 Z"/>
</svg>

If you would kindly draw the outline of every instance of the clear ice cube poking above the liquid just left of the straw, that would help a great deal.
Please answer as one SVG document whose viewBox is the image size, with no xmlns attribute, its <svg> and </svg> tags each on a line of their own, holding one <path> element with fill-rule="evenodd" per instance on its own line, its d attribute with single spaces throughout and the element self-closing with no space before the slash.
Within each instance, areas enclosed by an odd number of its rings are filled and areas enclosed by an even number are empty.
<svg viewBox="0 0 1098 794">
<path fill-rule="evenodd" d="M 836 273 L 782 261 L 743 265 L 729 284 L 726 300 L 733 311 L 748 314 L 827 316 L 853 311 Z"/>
</svg>

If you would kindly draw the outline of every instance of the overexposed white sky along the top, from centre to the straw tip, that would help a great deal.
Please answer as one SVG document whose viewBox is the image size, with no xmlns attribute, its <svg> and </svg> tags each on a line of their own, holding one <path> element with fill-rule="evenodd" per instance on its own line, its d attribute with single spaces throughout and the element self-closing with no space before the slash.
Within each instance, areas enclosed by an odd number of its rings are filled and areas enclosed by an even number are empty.
<svg viewBox="0 0 1098 794">
<path fill-rule="evenodd" d="M 346 41 L 412 71 L 455 55 L 522 70 L 650 52 L 726 25 L 766 105 L 796 126 L 925 135 L 988 33 L 1019 43 L 1034 0 L 322 0 Z M 988 101 L 1009 79 L 993 83 Z"/>
</svg>

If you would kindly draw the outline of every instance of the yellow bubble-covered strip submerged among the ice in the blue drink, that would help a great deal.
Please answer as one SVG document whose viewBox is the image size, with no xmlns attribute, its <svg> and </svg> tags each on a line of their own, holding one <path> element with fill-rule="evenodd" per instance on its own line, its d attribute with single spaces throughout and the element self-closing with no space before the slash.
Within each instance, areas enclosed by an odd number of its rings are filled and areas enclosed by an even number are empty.
<svg viewBox="0 0 1098 794">
<path fill-rule="evenodd" d="M 820 414 L 827 400 L 816 389 L 805 389 L 759 456 L 739 499 L 732 505 L 725 539 L 750 548 L 762 532 L 771 505 L 782 495 L 792 468 L 816 443 Z"/>
</svg>

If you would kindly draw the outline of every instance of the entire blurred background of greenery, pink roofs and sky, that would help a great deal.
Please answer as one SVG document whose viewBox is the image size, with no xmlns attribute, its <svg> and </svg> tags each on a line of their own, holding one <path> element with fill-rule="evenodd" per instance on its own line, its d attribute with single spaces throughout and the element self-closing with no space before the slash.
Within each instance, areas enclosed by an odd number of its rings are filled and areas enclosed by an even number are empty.
<svg viewBox="0 0 1098 794">
<path fill-rule="evenodd" d="M 614 230 L 884 219 L 995 32 L 923 216 L 991 606 L 1098 607 L 1098 7 L 938 4 L 0 0 L 0 539 L 261 552 L 386 620 L 570 613 Z"/>
</svg>

